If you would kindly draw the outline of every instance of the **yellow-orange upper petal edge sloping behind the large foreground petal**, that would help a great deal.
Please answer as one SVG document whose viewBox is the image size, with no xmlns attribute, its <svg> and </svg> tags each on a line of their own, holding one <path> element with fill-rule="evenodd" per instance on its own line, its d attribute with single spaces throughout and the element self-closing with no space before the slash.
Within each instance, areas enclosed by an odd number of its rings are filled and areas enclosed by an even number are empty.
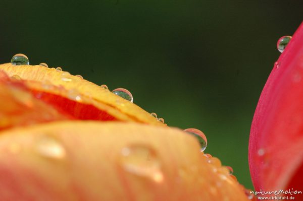
<svg viewBox="0 0 303 201">
<path fill-rule="evenodd" d="M 79 93 L 86 101 L 85 104 L 93 105 L 100 110 L 106 110 L 117 119 L 163 125 L 137 105 L 78 76 L 70 75 L 68 72 L 58 72 L 54 68 L 48 69 L 41 65 L 12 65 L 11 63 L 1 64 L 0 70 L 10 77 L 19 76 L 24 80 L 26 86 L 36 94 L 46 92 L 61 97 L 69 97 L 68 93 L 70 92 Z M 62 91 L 58 88 L 47 89 L 47 86 L 59 87 Z"/>
</svg>

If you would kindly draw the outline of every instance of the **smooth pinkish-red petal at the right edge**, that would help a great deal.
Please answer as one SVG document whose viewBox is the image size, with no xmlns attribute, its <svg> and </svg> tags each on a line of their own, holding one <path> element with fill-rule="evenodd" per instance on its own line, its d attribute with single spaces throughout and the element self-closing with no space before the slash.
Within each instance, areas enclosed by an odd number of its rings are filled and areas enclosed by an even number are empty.
<svg viewBox="0 0 303 201">
<path fill-rule="evenodd" d="M 257 191 L 303 191 L 303 23 L 276 63 L 251 125 L 250 173 Z"/>
</svg>

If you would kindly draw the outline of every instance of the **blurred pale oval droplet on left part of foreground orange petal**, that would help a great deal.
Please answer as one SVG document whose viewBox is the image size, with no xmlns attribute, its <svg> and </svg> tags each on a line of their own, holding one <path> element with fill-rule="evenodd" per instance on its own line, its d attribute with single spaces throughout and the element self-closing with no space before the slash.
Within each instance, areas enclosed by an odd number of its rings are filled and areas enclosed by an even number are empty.
<svg viewBox="0 0 303 201">
<path fill-rule="evenodd" d="M 47 158 L 63 159 L 66 156 L 64 147 L 51 136 L 40 137 L 36 149 L 40 155 Z"/>
</svg>

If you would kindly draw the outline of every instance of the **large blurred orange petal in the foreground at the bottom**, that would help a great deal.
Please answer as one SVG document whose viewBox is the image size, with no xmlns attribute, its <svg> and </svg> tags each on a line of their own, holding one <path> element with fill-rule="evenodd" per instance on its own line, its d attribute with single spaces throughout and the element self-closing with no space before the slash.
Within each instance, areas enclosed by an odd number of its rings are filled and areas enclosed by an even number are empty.
<svg viewBox="0 0 303 201">
<path fill-rule="evenodd" d="M 175 128 L 61 121 L 11 129 L 0 135 L 0 158 L 2 200 L 247 200 Z"/>
</svg>

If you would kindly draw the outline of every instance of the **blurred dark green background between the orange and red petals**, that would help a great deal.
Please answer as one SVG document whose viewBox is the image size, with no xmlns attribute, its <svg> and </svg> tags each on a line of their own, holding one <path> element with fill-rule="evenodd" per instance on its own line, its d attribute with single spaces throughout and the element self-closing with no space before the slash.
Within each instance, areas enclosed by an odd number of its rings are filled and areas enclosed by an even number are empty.
<svg viewBox="0 0 303 201">
<path fill-rule="evenodd" d="M 301 1 L 0 2 L 0 63 L 16 53 L 110 90 L 170 126 L 203 130 L 206 153 L 252 188 L 254 111 L 279 52 L 303 19 Z"/>
</svg>

